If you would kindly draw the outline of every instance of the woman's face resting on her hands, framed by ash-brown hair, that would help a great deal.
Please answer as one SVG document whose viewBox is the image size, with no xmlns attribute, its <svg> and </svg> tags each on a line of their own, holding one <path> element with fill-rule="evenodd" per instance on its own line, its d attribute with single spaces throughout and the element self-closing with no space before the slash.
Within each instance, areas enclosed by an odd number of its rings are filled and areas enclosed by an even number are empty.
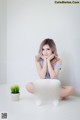
<svg viewBox="0 0 80 120">
<path fill-rule="evenodd" d="M 52 50 L 48 44 L 42 48 L 42 55 L 47 59 L 52 54 Z"/>
</svg>

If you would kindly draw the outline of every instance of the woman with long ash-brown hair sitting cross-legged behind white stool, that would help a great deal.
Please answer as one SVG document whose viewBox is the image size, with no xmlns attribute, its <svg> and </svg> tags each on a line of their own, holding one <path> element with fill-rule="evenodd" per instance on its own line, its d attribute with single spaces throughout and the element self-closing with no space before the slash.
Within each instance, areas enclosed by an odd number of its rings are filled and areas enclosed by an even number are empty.
<svg viewBox="0 0 80 120">
<path fill-rule="evenodd" d="M 59 79 L 62 61 L 58 57 L 56 44 L 52 39 L 42 41 L 39 55 L 35 57 L 35 63 L 40 78 Z M 34 93 L 34 83 L 28 83 L 26 89 L 30 93 Z M 61 88 L 61 99 L 65 99 L 73 93 L 74 89 L 72 86 L 64 86 Z"/>
</svg>

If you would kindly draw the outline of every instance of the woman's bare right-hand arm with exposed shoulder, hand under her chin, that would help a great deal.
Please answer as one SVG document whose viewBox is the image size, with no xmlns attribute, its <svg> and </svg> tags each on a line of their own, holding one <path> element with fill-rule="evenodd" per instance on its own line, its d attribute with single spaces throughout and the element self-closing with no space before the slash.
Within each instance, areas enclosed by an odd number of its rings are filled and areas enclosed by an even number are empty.
<svg viewBox="0 0 80 120">
<path fill-rule="evenodd" d="M 50 62 L 50 59 L 47 59 L 47 64 L 48 64 L 48 71 L 49 71 L 49 74 L 50 74 L 50 78 L 53 79 L 57 76 L 58 72 L 59 72 L 59 68 L 55 68 L 53 69 L 52 65 L 51 65 L 51 62 Z M 62 61 L 59 60 L 56 62 L 56 64 L 62 64 Z"/>
</svg>

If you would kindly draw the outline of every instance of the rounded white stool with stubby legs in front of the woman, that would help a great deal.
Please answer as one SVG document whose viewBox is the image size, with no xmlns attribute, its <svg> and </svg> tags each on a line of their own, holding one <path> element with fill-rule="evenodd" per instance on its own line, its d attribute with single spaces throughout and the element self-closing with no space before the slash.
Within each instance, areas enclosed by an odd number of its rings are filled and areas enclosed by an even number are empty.
<svg viewBox="0 0 80 120">
<path fill-rule="evenodd" d="M 36 104 L 52 102 L 55 106 L 60 101 L 61 82 L 58 79 L 39 79 L 34 82 Z"/>
</svg>

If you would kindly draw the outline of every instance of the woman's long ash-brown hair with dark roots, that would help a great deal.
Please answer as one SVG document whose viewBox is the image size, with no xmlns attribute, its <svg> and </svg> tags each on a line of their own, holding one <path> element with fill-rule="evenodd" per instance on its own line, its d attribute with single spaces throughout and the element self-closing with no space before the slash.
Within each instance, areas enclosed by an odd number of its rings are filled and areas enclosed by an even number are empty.
<svg viewBox="0 0 80 120">
<path fill-rule="evenodd" d="M 55 57 L 53 59 L 53 62 L 56 62 L 58 59 L 58 53 L 57 53 L 57 48 L 56 48 L 56 44 L 54 42 L 53 39 L 44 39 L 42 42 L 41 42 L 41 45 L 40 45 L 40 48 L 39 48 L 39 53 L 42 54 L 42 49 L 43 49 L 43 46 L 44 45 L 49 45 L 49 47 L 51 48 L 52 50 L 52 53 L 55 54 Z"/>
</svg>

